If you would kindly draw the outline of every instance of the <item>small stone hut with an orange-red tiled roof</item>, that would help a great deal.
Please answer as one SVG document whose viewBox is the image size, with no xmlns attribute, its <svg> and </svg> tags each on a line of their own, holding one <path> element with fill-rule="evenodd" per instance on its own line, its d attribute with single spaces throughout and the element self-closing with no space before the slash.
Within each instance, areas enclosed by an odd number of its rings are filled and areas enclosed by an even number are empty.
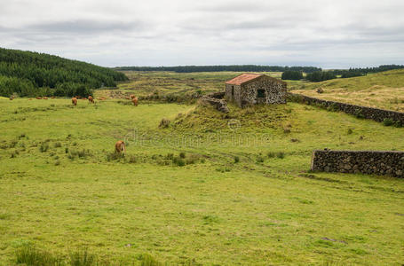
<svg viewBox="0 0 404 266">
<path fill-rule="evenodd" d="M 286 82 L 265 74 L 241 74 L 226 82 L 225 98 L 240 107 L 286 104 Z"/>
</svg>

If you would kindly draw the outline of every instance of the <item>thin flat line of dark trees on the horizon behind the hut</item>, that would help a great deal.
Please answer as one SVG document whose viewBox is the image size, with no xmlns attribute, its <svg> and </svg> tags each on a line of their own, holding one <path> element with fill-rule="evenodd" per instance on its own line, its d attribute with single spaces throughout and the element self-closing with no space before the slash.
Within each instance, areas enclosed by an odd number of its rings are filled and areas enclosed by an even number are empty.
<svg viewBox="0 0 404 266">
<path fill-rule="evenodd" d="M 115 70 L 121 71 L 172 71 L 178 73 L 191 72 L 284 72 L 301 71 L 312 73 L 321 71 L 320 67 L 315 66 L 256 66 L 256 65 L 234 65 L 234 66 L 118 66 Z"/>
</svg>

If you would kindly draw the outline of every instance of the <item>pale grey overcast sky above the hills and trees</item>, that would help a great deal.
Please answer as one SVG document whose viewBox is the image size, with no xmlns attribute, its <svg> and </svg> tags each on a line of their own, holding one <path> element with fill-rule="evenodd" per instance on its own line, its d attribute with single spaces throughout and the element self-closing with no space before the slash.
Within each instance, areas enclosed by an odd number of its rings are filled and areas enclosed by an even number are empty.
<svg viewBox="0 0 404 266">
<path fill-rule="evenodd" d="M 100 66 L 404 64 L 404 1 L 0 0 L 0 47 Z"/>
</svg>

